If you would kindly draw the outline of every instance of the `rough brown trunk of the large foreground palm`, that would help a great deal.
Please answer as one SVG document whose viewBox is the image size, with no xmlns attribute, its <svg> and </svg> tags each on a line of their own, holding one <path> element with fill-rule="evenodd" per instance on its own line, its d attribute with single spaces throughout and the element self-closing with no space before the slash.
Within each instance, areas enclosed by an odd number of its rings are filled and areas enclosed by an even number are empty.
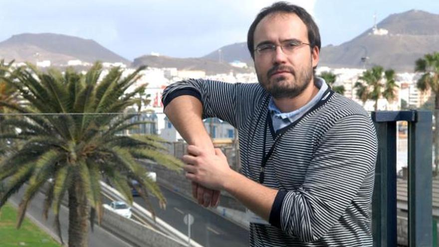
<svg viewBox="0 0 439 247">
<path fill-rule="evenodd" d="M 69 188 L 69 247 L 88 247 L 88 203 L 78 178 Z"/>
</svg>

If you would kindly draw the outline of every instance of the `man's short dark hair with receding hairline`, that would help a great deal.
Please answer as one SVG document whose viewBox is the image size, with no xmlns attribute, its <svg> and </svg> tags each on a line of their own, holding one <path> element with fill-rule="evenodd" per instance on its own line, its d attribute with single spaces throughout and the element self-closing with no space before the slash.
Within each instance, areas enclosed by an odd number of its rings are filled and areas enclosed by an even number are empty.
<svg viewBox="0 0 439 247">
<path fill-rule="evenodd" d="M 310 42 L 311 49 L 314 46 L 317 46 L 320 50 L 321 41 L 320 41 L 320 33 L 319 27 L 312 19 L 312 16 L 302 7 L 299 7 L 294 4 L 290 4 L 284 1 L 278 1 L 273 3 L 271 6 L 263 8 L 251 23 L 250 28 L 247 33 L 247 47 L 250 51 L 251 58 L 254 60 L 254 30 L 256 29 L 257 24 L 268 14 L 271 13 L 294 13 L 305 23 L 306 29 L 308 29 L 308 39 Z"/>
</svg>

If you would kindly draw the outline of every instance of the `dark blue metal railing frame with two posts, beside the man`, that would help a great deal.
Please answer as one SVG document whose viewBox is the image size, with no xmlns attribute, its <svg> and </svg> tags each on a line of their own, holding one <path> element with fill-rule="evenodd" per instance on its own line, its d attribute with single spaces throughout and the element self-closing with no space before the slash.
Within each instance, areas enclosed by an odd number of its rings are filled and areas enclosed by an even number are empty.
<svg viewBox="0 0 439 247">
<path fill-rule="evenodd" d="M 372 112 L 378 135 L 378 157 L 372 201 L 375 247 L 397 246 L 397 122 L 408 122 L 409 247 L 433 245 L 432 112 Z"/>
</svg>

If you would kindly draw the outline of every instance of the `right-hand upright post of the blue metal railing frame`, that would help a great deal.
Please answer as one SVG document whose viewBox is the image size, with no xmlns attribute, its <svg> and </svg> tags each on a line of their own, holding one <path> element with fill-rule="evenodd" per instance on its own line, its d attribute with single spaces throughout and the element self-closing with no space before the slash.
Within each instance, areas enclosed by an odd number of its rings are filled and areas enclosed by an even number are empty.
<svg viewBox="0 0 439 247">
<path fill-rule="evenodd" d="M 409 122 L 409 247 L 432 246 L 432 112 Z"/>
</svg>

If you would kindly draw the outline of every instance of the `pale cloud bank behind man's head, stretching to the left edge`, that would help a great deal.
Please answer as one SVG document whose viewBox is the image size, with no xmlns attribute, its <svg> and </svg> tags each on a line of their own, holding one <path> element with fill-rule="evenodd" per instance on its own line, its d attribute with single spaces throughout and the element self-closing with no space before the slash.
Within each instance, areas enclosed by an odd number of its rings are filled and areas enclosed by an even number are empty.
<svg viewBox="0 0 439 247">
<path fill-rule="evenodd" d="M 314 13 L 316 0 L 291 0 Z M 22 32 L 91 38 L 127 58 L 151 51 L 201 56 L 244 42 L 274 0 L 42 0 L 2 2 L 0 41 Z M 20 11 L 15 11 L 20 9 Z M 2 14 L 1 14 L 2 13 Z"/>
</svg>

